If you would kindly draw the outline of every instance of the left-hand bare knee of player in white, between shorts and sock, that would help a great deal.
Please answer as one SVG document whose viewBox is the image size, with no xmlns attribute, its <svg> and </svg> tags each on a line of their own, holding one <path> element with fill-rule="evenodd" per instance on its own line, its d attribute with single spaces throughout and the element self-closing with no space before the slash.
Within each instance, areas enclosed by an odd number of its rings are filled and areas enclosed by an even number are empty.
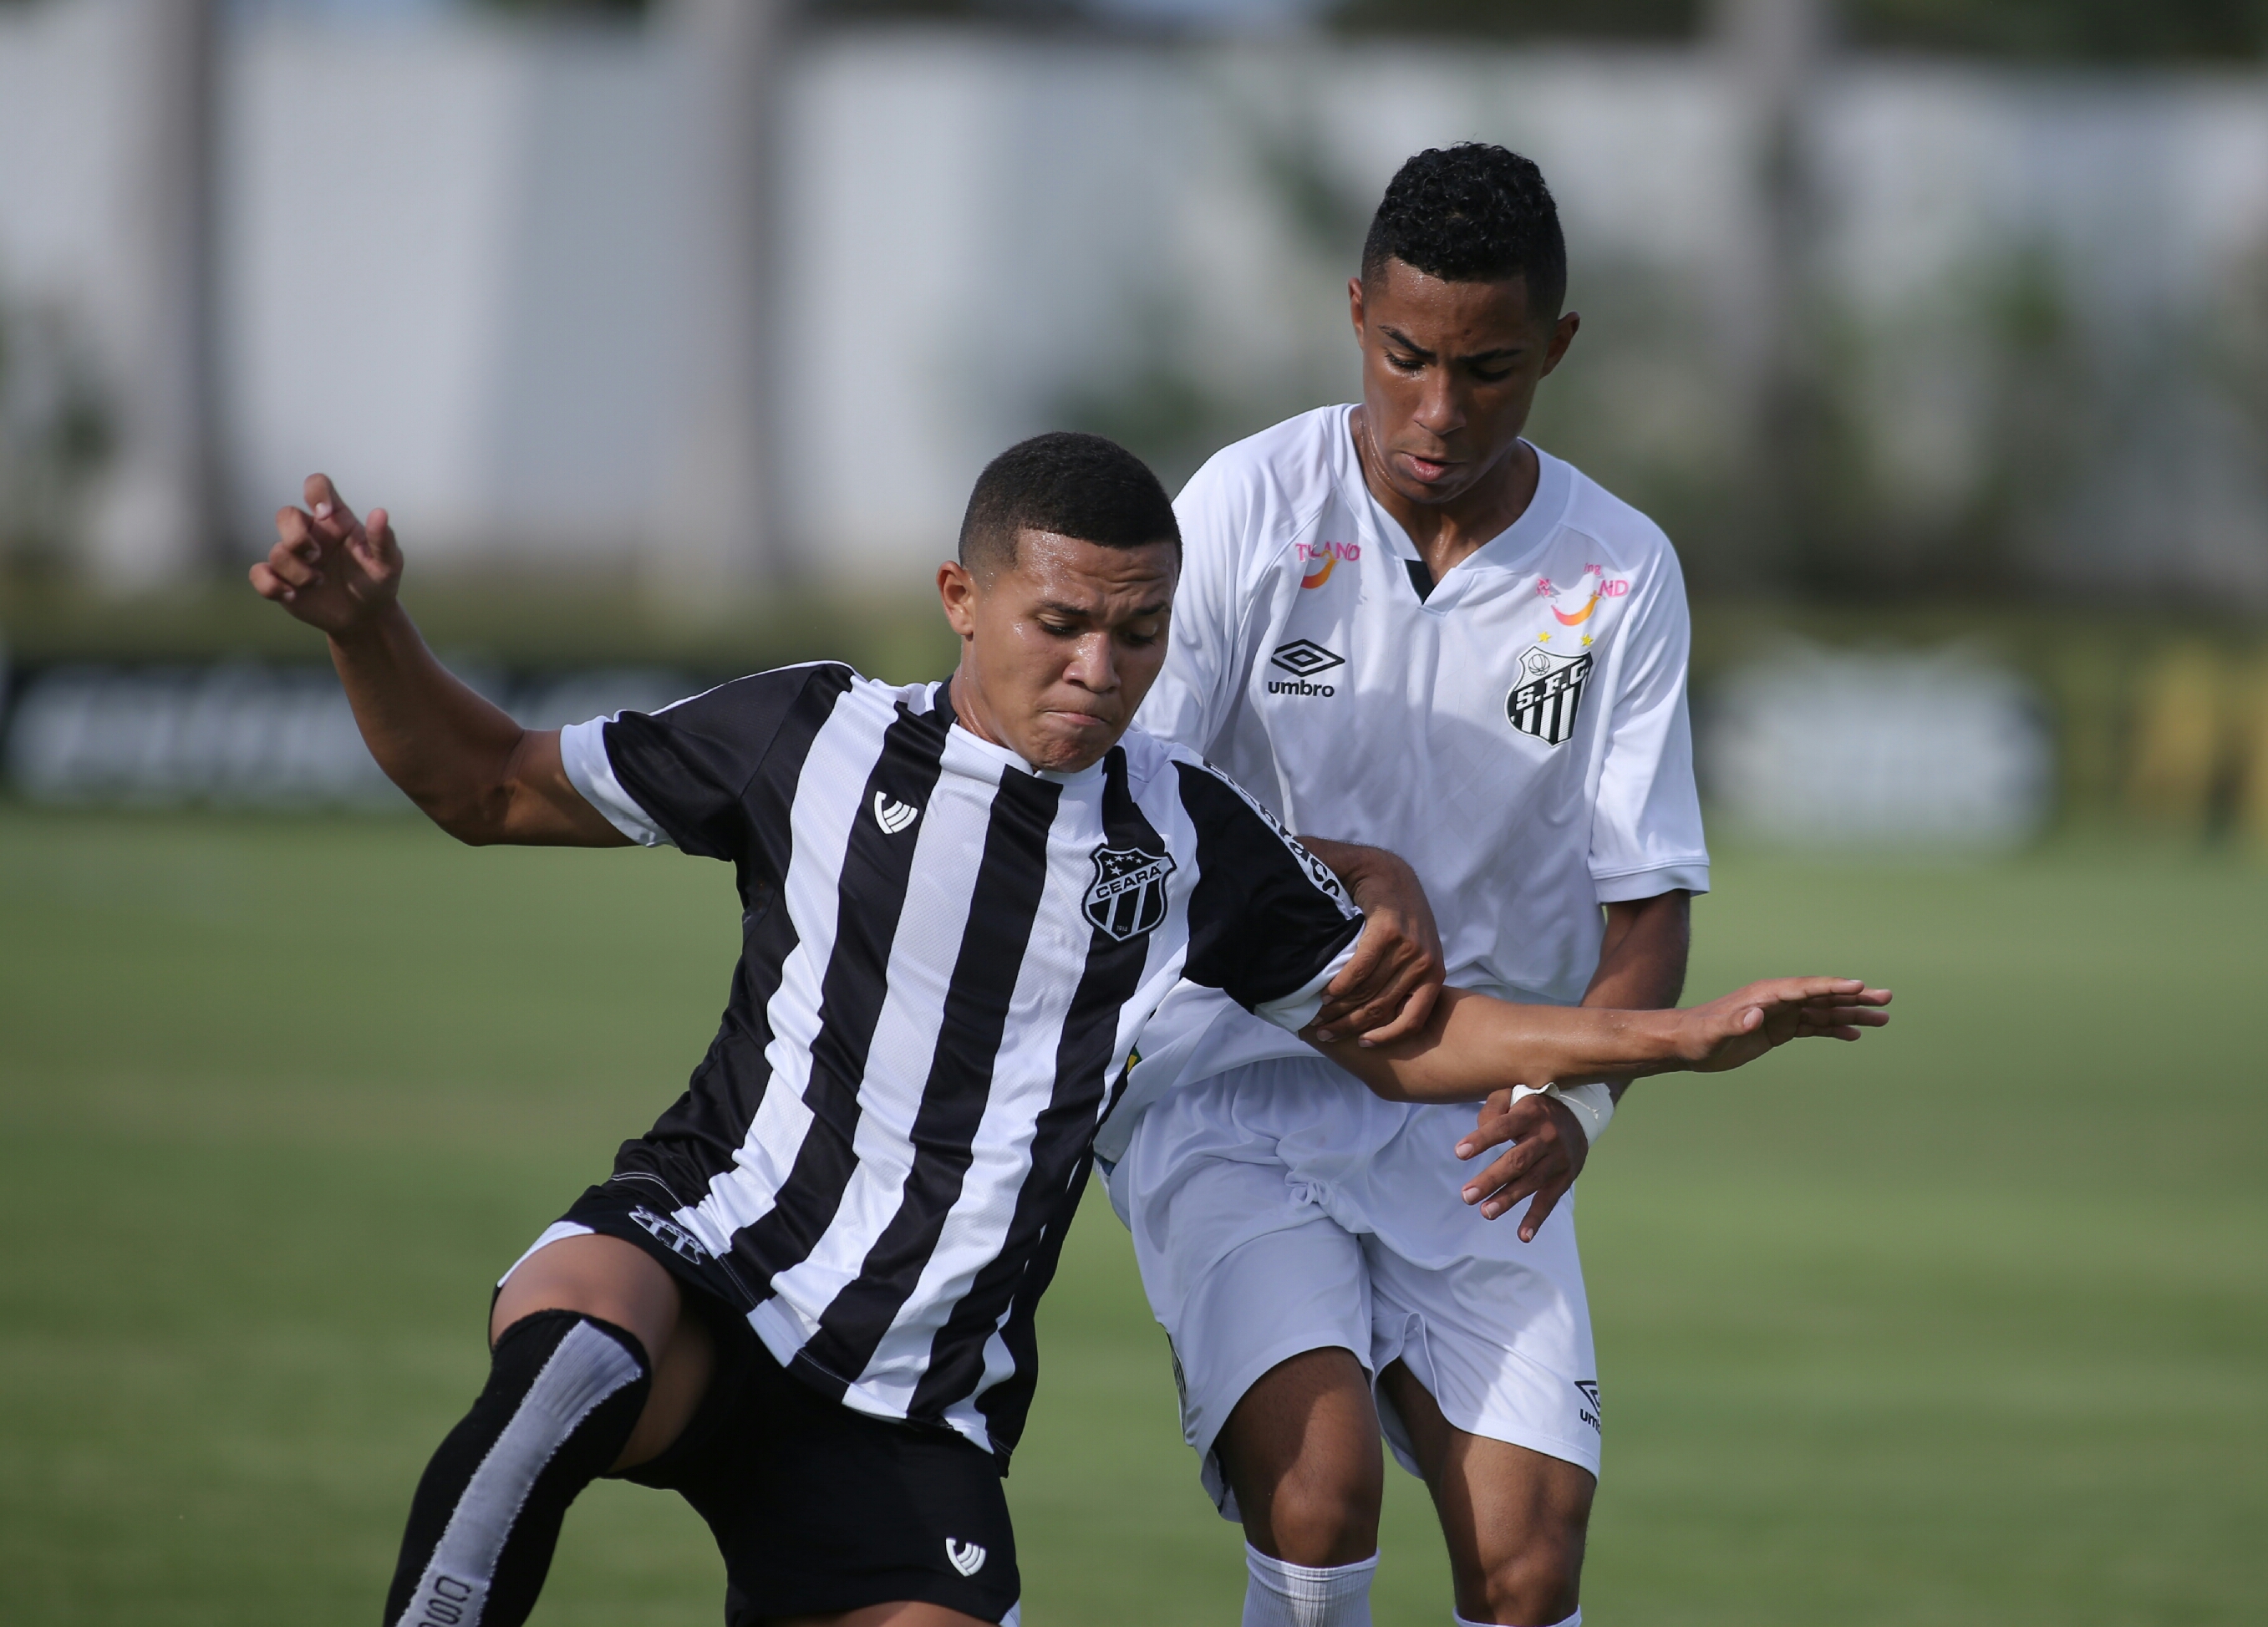
<svg viewBox="0 0 2268 1627">
<path fill-rule="evenodd" d="M 1268 1368 L 1216 1450 L 1245 1541 L 1270 1559 L 1322 1568 L 1379 1552 L 1386 1459 L 1370 1377 L 1352 1350 L 1306 1350 Z"/>
</svg>

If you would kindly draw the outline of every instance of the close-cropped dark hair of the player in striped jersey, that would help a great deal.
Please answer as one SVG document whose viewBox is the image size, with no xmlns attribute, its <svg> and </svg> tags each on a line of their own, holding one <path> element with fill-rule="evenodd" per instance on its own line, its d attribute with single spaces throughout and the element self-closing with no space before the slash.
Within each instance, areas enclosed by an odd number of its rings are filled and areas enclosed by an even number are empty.
<svg viewBox="0 0 2268 1627">
<path fill-rule="evenodd" d="M 1116 440 L 1068 429 L 1018 440 L 984 465 L 962 515 L 962 565 L 1014 565 L 1018 531 L 1102 547 L 1173 542 L 1182 556 L 1182 524 L 1150 465 Z"/>
</svg>

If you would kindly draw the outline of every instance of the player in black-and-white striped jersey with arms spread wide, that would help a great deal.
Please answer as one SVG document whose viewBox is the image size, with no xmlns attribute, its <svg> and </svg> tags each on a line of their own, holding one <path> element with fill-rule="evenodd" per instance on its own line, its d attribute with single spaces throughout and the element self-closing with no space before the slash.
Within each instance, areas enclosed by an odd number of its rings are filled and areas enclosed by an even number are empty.
<svg viewBox="0 0 2268 1627">
<path fill-rule="evenodd" d="M 383 511 L 358 522 L 322 477 L 306 499 L 254 588 L 329 633 L 420 808 L 465 842 L 728 860 L 744 908 L 683 1098 L 497 1289 L 488 1386 L 417 1486 L 388 1627 L 524 1620 L 599 1475 L 701 1511 L 733 1627 L 1014 1622 L 1000 1475 L 1032 1309 L 1143 1023 L 1191 978 L 1311 1030 L 1368 933 L 1259 803 L 1127 728 L 1179 572 L 1166 492 L 1107 440 L 1025 442 L 939 570 L 950 681 L 814 663 L 556 733 L 426 651 Z M 1449 992 L 1413 1039 L 1334 1051 L 1395 1098 L 1476 1101 L 1857 1037 L 1885 998 L 1796 978 L 1619 1014 Z"/>
</svg>

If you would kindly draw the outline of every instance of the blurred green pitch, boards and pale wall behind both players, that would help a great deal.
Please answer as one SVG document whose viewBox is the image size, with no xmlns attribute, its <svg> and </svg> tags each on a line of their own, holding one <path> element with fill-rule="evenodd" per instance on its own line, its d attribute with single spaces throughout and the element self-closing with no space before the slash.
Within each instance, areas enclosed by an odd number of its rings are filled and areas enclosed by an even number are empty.
<svg viewBox="0 0 2268 1627">
<path fill-rule="evenodd" d="M 2259 1618 L 2254 0 L 0 0 L 0 1616 L 374 1611 L 483 1282 L 723 989 L 705 867 L 404 817 L 243 585 L 299 479 L 528 724 L 937 676 L 975 470 L 1352 397 L 1458 138 L 1567 225 L 1531 436 L 1694 590 L 1694 989 L 1901 989 L 1585 1178 L 1590 1618 Z M 1229 1620 L 1102 1205 L 1048 1316 L 1027 1618 Z M 714 1618 L 594 1509 L 538 1620 Z"/>
</svg>

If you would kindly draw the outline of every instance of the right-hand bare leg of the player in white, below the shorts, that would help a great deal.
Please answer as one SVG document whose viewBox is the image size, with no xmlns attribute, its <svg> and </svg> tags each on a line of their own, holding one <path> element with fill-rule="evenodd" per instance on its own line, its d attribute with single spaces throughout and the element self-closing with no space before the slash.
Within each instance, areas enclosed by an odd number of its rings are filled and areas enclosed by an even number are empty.
<svg viewBox="0 0 2268 1627">
<path fill-rule="evenodd" d="M 1399 1362 L 1381 1375 L 1449 1541 L 1456 1613 L 1545 1627 L 1574 1616 L 1599 1482 L 1545 1452 L 1465 1434 Z"/>
</svg>

